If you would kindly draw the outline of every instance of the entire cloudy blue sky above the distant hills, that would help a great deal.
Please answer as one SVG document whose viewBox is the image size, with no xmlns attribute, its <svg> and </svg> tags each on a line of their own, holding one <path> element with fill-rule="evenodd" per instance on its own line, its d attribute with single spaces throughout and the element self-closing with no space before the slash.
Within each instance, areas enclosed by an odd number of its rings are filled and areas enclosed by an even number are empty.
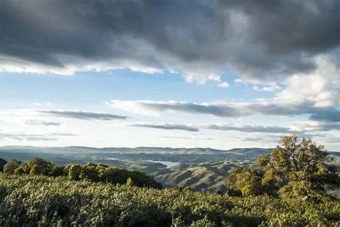
<svg viewBox="0 0 340 227">
<path fill-rule="evenodd" d="M 340 151 L 340 1 L 0 1 L 0 146 Z"/>
</svg>

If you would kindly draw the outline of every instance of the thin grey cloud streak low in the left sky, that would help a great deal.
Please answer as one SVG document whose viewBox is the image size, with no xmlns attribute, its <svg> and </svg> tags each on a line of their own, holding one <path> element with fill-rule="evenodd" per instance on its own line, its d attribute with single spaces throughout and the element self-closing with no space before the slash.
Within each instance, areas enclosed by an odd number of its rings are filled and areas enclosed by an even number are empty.
<svg viewBox="0 0 340 227">
<path fill-rule="evenodd" d="M 78 110 L 35 110 L 41 114 L 52 115 L 57 117 L 75 118 L 82 120 L 124 120 L 127 116 L 108 114 L 104 112 L 88 112 Z"/>
</svg>

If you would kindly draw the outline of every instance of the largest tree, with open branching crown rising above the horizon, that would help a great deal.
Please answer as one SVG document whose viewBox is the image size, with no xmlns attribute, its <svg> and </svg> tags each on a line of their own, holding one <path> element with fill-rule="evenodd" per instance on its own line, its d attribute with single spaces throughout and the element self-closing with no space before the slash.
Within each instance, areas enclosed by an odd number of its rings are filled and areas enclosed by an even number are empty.
<svg viewBox="0 0 340 227">
<path fill-rule="evenodd" d="M 325 162 L 331 161 L 323 146 L 311 138 L 284 136 L 270 155 L 257 159 L 265 167 L 262 185 L 273 186 L 283 197 L 319 198 L 326 195 L 330 184 L 340 184 L 336 169 Z"/>
</svg>

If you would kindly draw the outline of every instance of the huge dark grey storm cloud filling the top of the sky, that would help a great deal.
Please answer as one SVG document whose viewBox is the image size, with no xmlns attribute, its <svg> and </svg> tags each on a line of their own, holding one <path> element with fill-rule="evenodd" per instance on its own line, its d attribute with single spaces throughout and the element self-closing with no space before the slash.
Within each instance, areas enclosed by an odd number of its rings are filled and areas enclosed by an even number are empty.
<svg viewBox="0 0 340 227">
<path fill-rule="evenodd" d="M 203 80 L 231 67 L 263 79 L 313 70 L 311 57 L 340 40 L 338 0 L 0 4 L 2 56 L 60 70 L 76 66 L 69 71 L 138 65 Z"/>
</svg>

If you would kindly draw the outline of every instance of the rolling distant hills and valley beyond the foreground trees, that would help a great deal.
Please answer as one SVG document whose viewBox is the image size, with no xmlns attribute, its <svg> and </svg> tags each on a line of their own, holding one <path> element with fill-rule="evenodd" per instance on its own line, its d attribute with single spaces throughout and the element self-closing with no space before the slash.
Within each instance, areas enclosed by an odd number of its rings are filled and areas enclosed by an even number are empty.
<svg viewBox="0 0 340 227">
<path fill-rule="evenodd" d="M 124 169 L 136 169 L 153 176 L 165 187 L 188 186 L 193 190 L 225 192 L 225 176 L 234 167 L 254 167 L 258 155 L 273 149 L 236 148 L 91 148 L 91 147 L 0 147 L 0 158 L 27 161 L 34 157 L 55 161 L 57 165 L 87 162 L 104 163 Z M 340 168 L 340 153 L 330 152 L 333 164 Z M 148 161 L 146 161 L 148 160 Z M 167 164 L 174 166 L 167 168 Z M 166 164 L 164 164 L 166 163 Z"/>
</svg>

